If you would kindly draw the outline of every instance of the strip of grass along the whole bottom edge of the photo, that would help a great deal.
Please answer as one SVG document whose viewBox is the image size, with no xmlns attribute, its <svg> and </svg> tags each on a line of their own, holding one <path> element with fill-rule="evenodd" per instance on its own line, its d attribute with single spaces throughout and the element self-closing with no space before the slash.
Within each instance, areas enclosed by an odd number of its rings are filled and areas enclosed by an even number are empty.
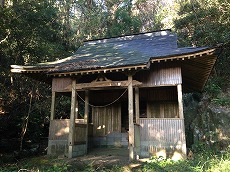
<svg viewBox="0 0 230 172">
<path fill-rule="evenodd" d="M 40 156 L 22 159 L 18 162 L 0 162 L 1 172 L 71 172 L 71 171 L 129 171 L 125 166 L 115 165 L 113 167 L 95 167 L 89 163 L 83 169 L 78 169 L 76 165 L 70 164 L 67 159 L 58 159 L 57 157 Z M 137 172 L 229 172 L 230 171 L 230 152 L 212 154 L 198 153 L 194 155 L 193 160 L 172 161 L 170 159 L 151 158 L 132 171 Z"/>
</svg>

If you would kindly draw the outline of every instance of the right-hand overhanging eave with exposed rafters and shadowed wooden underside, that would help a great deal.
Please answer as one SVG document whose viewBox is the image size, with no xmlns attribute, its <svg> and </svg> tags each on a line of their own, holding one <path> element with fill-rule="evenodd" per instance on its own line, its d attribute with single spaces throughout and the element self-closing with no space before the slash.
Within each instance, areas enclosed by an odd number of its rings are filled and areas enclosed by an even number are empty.
<svg viewBox="0 0 230 172">
<path fill-rule="evenodd" d="M 201 92 L 217 60 L 217 49 L 208 48 L 195 53 L 151 59 L 151 63 L 180 61 L 183 92 Z"/>
</svg>

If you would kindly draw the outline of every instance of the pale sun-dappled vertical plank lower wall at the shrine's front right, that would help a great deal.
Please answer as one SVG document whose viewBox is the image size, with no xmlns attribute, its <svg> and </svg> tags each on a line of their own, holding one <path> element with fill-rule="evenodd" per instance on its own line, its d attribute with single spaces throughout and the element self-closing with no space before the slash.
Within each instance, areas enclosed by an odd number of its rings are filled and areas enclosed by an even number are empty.
<svg viewBox="0 0 230 172">
<path fill-rule="evenodd" d="M 186 149 L 183 119 L 140 118 L 141 156 L 156 155 L 164 149 L 167 157 Z"/>
</svg>

